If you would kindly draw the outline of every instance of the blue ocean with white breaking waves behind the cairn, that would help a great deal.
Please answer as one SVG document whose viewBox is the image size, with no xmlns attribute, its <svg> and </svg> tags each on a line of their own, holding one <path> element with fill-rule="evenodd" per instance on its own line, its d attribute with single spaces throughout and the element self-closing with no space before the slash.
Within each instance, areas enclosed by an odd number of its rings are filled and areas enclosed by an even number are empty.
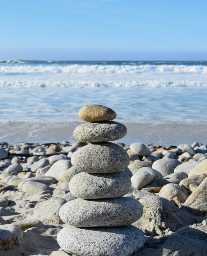
<svg viewBox="0 0 207 256">
<path fill-rule="evenodd" d="M 207 62 L 0 61 L 0 140 L 56 140 L 88 104 L 124 123 L 207 124 Z M 56 137 L 42 136 L 49 124 Z"/>
</svg>

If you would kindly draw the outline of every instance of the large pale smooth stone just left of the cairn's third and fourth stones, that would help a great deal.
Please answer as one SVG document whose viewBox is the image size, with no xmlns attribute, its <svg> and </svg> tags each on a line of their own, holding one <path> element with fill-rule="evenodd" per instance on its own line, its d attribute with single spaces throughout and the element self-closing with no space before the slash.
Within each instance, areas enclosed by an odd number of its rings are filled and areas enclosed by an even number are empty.
<svg viewBox="0 0 207 256">
<path fill-rule="evenodd" d="M 67 169 L 72 167 L 70 160 L 58 160 L 55 162 L 52 167 L 45 173 L 45 176 L 50 176 L 56 178 L 58 181 L 62 181 L 61 175 Z"/>
</svg>

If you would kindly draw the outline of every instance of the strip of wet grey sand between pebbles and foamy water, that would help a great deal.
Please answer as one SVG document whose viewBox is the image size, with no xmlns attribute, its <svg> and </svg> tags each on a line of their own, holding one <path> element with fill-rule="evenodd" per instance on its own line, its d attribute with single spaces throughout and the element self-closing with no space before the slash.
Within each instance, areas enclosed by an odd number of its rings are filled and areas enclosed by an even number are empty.
<svg viewBox="0 0 207 256">
<path fill-rule="evenodd" d="M 73 131 L 83 122 L 0 122 L 0 141 L 11 144 L 22 142 L 75 142 Z M 127 135 L 119 140 L 126 145 L 134 142 L 154 145 L 191 145 L 195 141 L 202 141 L 207 145 L 206 123 L 126 123 Z"/>
</svg>

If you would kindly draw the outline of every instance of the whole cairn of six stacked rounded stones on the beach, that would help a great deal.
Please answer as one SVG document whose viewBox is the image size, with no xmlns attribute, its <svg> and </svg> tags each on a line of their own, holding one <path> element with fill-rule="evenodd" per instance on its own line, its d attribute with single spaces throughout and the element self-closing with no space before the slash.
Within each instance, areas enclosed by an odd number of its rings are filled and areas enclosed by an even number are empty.
<svg viewBox="0 0 207 256">
<path fill-rule="evenodd" d="M 116 112 L 101 105 L 87 105 L 79 111 L 87 123 L 74 130 L 74 137 L 86 146 L 71 157 L 80 171 L 69 184 L 77 199 L 60 208 L 68 224 L 57 235 L 61 248 L 77 256 L 131 256 L 145 243 L 143 232 L 131 225 L 143 214 L 142 204 L 123 197 L 131 188 L 123 172 L 130 159 L 115 141 L 123 138 L 125 125 L 111 121 Z"/>
</svg>

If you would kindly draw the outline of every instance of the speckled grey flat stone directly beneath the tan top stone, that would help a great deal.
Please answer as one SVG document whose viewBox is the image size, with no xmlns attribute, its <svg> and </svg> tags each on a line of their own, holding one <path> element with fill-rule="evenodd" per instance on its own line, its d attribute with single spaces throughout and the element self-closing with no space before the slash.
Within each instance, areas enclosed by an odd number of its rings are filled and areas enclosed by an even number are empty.
<svg viewBox="0 0 207 256">
<path fill-rule="evenodd" d="M 73 135 L 83 142 L 106 142 L 123 138 L 127 133 L 124 124 L 114 121 L 84 123 L 75 128 Z"/>
</svg>

